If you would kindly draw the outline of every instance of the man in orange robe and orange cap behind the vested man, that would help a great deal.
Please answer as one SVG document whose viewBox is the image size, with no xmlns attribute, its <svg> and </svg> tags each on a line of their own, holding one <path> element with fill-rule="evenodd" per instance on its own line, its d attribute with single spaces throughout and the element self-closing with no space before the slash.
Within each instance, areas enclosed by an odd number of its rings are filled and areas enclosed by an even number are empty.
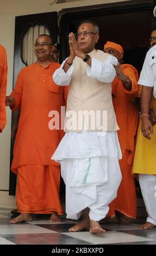
<svg viewBox="0 0 156 256">
<path fill-rule="evenodd" d="M 136 190 L 132 172 L 132 164 L 135 151 L 135 135 L 138 128 L 139 112 L 135 106 L 133 97 L 139 90 L 138 71 L 130 64 L 121 64 L 123 48 L 114 42 L 104 45 L 104 52 L 110 53 L 118 59 L 114 66 L 116 77 L 112 83 L 113 105 L 117 123 L 120 130 L 117 131 L 122 160 L 119 160 L 122 181 L 118 188 L 117 197 L 109 205 L 109 218 L 115 217 L 115 211 L 119 212 L 120 221 L 130 222 L 130 218 L 136 218 Z"/>
</svg>

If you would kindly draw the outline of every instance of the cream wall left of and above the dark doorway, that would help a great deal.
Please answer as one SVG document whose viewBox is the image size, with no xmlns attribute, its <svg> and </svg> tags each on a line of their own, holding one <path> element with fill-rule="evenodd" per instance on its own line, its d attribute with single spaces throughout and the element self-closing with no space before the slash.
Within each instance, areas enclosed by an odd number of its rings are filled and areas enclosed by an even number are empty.
<svg viewBox="0 0 156 256">
<path fill-rule="evenodd" d="M 97 0 L 96 4 L 123 2 L 124 0 Z M 130 0 L 129 0 L 130 1 Z M 60 11 L 64 8 L 94 5 L 93 0 L 83 0 L 64 4 L 52 4 L 54 0 L 0 0 L 0 44 L 8 54 L 8 88 L 7 95 L 13 87 L 13 60 L 14 60 L 14 29 L 15 16 Z M 8 196 L 9 190 L 9 163 L 10 163 L 10 130 L 11 111 L 7 108 L 7 125 L 0 135 L 0 207 L 15 207 L 15 197 Z"/>
</svg>

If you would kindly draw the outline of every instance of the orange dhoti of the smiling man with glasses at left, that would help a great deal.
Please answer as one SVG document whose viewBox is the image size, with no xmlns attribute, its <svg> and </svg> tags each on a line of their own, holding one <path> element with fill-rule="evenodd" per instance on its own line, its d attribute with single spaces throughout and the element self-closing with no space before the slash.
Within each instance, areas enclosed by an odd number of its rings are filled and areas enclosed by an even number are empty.
<svg viewBox="0 0 156 256">
<path fill-rule="evenodd" d="M 60 167 L 26 164 L 17 167 L 17 210 L 26 214 L 62 215 L 60 199 Z"/>
</svg>

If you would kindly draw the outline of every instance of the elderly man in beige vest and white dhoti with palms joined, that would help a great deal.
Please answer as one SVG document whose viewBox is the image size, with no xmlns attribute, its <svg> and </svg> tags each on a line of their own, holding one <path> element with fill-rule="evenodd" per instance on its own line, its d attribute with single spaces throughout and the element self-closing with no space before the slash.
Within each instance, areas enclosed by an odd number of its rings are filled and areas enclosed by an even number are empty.
<svg viewBox="0 0 156 256">
<path fill-rule="evenodd" d="M 121 181 L 121 150 L 111 99 L 117 59 L 95 50 L 99 34 L 94 23 L 81 23 L 76 36 L 77 40 L 70 33 L 70 56 L 53 75 L 55 83 L 70 87 L 66 135 L 52 159 L 61 164 L 67 218 L 83 215 L 82 221 L 69 230 L 103 233 L 98 222 L 107 215 L 108 204 L 116 197 Z M 93 115 L 82 116 L 84 111 Z"/>
</svg>

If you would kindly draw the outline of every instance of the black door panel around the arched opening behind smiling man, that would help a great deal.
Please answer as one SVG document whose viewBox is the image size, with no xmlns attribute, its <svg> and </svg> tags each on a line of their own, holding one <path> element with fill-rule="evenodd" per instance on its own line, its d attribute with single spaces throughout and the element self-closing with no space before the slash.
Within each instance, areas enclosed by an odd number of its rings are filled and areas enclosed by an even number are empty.
<svg viewBox="0 0 156 256">
<path fill-rule="evenodd" d="M 22 61 L 22 40 L 28 29 L 35 25 L 43 25 L 48 28 L 49 34 L 53 41 L 57 41 L 58 36 L 58 13 L 52 11 L 49 13 L 30 14 L 15 17 L 15 41 L 14 41 L 14 76 L 13 89 L 16 84 L 18 72 L 26 66 Z M 14 114 L 11 117 L 11 128 L 14 124 Z M 11 138 L 10 145 L 10 167 L 13 161 L 13 148 L 15 138 Z M 16 193 L 16 175 L 11 172 L 9 175 L 9 196 L 14 196 Z"/>
</svg>

